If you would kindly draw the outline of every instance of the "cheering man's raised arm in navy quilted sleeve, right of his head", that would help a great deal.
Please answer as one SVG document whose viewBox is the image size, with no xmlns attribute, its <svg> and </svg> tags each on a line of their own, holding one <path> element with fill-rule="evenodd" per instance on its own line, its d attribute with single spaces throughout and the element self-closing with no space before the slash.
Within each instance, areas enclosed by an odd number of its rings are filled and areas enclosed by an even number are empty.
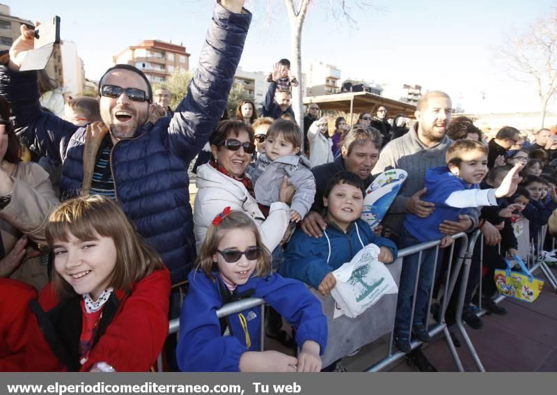
<svg viewBox="0 0 557 395">
<path fill-rule="evenodd" d="M 222 0 L 215 5 L 194 78 L 168 127 L 168 147 L 187 162 L 203 148 L 226 109 L 251 22 L 243 4 Z"/>
</svg>

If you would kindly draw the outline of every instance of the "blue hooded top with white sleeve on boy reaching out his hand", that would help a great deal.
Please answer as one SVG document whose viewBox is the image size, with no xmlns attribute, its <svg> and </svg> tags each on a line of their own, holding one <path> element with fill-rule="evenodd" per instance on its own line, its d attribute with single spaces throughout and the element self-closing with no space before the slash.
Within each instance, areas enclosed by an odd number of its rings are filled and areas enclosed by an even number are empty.
<svg viewBox="0 0 557 395">
<path fill-rule="evenodd" d="M 469 185 L 462 178 L 451 173 L 447 166 L 433 167 L 425 172 L 427 192 L 422 196 L 423 201 L 435 204 L 435 210 L 429 217 L 418 217 L 407 213 L 405 229 L 420 242 L 439 240 L 445 234 L 439 231 L 439 225 L 448 219 L 457 221 L 458 216 L 468 214 L 470 208 L 480 206 L 496 206 L 493 189 L 479 189 L 479 185 Z M 454 192 L 475 190 L 477 193 L 467 195 L 467 199 L 449 199 Z M 489 196 L 489 197 L 488 197 Z"/>
</svg>

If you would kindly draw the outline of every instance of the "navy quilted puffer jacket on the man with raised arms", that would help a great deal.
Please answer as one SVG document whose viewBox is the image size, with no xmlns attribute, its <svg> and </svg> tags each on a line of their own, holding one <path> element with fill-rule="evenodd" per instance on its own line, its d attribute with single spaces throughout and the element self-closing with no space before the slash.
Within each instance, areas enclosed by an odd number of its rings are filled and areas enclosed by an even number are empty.
<svg viewBox="0 0 557 395">
<path fill-rule="evenodd" d="M 199 66 L 174 116 L 143 125 L 134 138 L 118 141 L 111 151 L 116 199 L 137 231 L 161 253 L 173 283 L 187 278 L 196 256 L 189 162 L 226 108 L 250 21 L 250 13 L 230 13 L 217 4 Z M 63 163 L 61 193 L 72 197 L 88 190 L 84 169 L 92 173 L 98 147 L 85 150 L 86 139 L 94 141 L 95 135 L 40 110 L 36 72 L 0 66 L 0 95 L 12 103 L 22 141 Z"/>
</svg>

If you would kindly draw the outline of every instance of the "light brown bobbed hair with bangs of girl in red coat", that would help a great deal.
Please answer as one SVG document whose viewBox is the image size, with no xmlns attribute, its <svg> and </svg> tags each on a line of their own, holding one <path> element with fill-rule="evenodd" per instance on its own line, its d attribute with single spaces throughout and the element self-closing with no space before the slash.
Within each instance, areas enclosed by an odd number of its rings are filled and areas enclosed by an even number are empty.
<svg viewBox="0 0 557 395">
<path fill-rule="evenodd" d="M 79 240 L 95 240 L 97 236 L 111 238 L 116 246 L 116 265 L 110 274 L 108 287 L 125 289 L 156 269 L 164 268 L 159 254 L 148 246 L 135 231 L 122 208 L 103 196 L 86 196 L 62 203 L 50 215 L 46 239 L 52 247 L 56 242 L 68 242 L 68 235 Z M 61 299 L 75 291 L 56 270 L 52 282 Z"/>
</svg>

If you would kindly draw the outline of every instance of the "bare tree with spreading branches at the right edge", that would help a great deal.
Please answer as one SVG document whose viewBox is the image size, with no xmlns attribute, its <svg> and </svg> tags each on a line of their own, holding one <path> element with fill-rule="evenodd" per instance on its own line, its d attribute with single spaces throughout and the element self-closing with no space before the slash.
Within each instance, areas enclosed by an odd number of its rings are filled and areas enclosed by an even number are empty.
<svg viewBox="0 0 557 395">
<path fill-rule="evenodd" d="M 521 36 L 514 36 L 496 49 L 510 77 L 535 83 L 540 98 L 540 127 L 544 127 L 547 104 L 557 92 L 557 8 L 536 20 Z"/>
</svg>

